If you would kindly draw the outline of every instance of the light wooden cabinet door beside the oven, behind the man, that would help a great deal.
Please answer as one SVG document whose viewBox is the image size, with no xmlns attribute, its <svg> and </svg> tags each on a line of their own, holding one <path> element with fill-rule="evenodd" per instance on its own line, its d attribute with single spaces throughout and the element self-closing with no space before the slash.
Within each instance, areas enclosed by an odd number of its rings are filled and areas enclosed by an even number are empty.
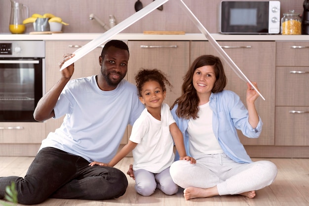
<svg viewBox="0 0 309 206">
<path fill-rule="evenodd" d="M 46 91 L 48 91 L 60 78 L 58 62 L 63 59 L 63 54 L 73 53 L 89 41 L 46 41 Z M 99 56 L 103 45 L 95 48 L 79 60 L 74 65 L 72 79 L 89 77 L 100 73 Z M 46 121 L 46 135 L 55 131 L 63 122 L 63 118 Z M 125 131 L 122 143 L 127 142 L 127 131 Z"/>
</svg>

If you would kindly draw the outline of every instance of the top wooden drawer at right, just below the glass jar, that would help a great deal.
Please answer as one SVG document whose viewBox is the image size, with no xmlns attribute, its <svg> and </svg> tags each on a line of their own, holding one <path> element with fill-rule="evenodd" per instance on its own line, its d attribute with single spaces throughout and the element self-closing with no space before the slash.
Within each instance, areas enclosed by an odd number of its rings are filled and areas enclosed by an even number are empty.
<svg viewBox="0 0 309 206">
<path fill-rule="evenodd" d="M 309 66 L 309 42 L 277 41 L 276 66 Z"/>
</svg>

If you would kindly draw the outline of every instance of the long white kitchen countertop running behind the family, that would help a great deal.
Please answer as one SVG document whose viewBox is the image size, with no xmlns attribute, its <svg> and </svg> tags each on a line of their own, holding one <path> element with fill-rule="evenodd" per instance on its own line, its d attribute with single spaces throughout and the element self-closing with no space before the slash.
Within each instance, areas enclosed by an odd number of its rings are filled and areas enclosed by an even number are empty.
<svg viewBox="0 0 309 206">
<path fill-rule="evenodd" d="M 57 33 L 57 34 L 0 34 L 0 41 L 20 40 L 93 40 L 101 33 Z M 309 35 L 225 35 L 211 34 L 216 41 L 309 41 Z M 205 41 L 203 34 L 144 35 L 142 33 L 119 33 L 112 39 L 140 41 Z"/>
</svg>

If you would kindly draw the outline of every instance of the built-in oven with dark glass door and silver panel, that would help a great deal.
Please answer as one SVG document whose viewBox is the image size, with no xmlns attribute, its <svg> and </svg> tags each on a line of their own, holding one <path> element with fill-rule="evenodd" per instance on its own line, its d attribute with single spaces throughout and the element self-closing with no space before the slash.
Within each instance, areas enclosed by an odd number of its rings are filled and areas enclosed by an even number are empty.
<svg viewBox="0 0 309 206">
<path fill-rule="evenodd" d="M 36 122 L 45 92 L 45 42 L 0 41 L 0 122 Z"/>
</svg>

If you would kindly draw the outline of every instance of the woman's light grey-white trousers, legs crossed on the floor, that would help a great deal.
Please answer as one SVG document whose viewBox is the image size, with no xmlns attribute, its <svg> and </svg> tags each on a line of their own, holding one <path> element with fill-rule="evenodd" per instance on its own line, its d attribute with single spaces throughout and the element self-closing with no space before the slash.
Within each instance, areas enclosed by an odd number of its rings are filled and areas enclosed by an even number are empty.
<svg viewBox="0 0 309 206">
<path fill-rule="evenodd" d="M 195 159 L 195 165 L 181 160 L 170 167 L 173 181 L 182 188 L 217 186 L 219 195 L 235 195 L 269 186 L 277 175 L 277 167 L 270 161 L 240 164 L 224 153 Z"/>
</svg>

